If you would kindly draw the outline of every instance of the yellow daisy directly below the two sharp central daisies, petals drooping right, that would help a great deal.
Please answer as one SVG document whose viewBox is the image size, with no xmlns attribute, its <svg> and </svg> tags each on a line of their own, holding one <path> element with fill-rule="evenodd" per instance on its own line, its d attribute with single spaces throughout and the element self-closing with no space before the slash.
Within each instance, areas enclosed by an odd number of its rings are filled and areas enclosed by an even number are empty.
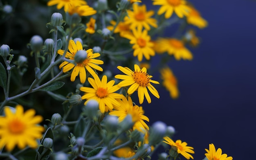
<svg viewBox="0 0 256 160">
<path fill-rule="evenodd" d="M 120 106 L 114 106 L 114 111 L 111 111 L 109 114 L 112 116 L 119 117 L 119 122 L 123 121 L 124 118 L 128 114 L 132 116 L 132 121 L 135 122 L 132 129 L 137 129 L 138 131 L 141 131 L 143 133 L 146 133 L 146 130 L 149 130 L 148 125 L 144 122 L 144 120 L 149 122 L 149 119 L 147 116 L 144 116 L 144 111 L 142 107 L 139 107 L 137 105 L 133 106 L 132 98 L 130 96 L 128 97 L 128 100 L 124 97 L 122 100 L 117 100 L 121 105 Z"/>
</svg>

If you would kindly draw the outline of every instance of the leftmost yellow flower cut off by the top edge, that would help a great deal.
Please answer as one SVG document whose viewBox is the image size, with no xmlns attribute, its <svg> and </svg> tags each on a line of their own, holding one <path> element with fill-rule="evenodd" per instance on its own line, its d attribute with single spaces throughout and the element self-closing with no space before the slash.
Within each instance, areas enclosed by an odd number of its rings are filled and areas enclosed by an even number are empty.
<svg viewBox="0 0 256 160">
<path fill-rule="evenodd" d="M 87 3 L 84 0 L 49 0 L 47 2 L 47 6 L 53 6 L 55 4 L 57 4 L 57 9 L 64 7 L 64 11 L 67 12 L 71 4 L 76 4 L 76 6 L 79 6 Z"/>
</svg>

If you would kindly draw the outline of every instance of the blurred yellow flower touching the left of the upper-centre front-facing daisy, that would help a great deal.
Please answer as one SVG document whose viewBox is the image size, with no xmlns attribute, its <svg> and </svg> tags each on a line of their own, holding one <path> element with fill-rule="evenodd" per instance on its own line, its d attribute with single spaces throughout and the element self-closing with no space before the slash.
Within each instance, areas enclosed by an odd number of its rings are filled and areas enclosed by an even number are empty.
<svg viewBox="0 0 256 160">
<path fill-rule="evenodd" d="M 112 24 L 112 26 L 108 26 L 107 29 L 112 31 L 117 22 L 111 20 L 110 24 Z M 130 24 L 126 24 L 125 22 L 119 22 L 113 33 L 119 33 L 121 37 L 124 37 L 124 35 L 132 35 L 132 32 L 130 30 Z"/>
</svg>

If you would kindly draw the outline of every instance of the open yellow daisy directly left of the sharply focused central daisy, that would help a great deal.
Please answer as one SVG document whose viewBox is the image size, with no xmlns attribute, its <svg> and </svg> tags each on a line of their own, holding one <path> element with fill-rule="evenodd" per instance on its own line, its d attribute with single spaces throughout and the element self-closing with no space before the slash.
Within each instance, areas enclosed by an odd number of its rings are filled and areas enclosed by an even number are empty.
<svg viewBox="0 0 256 160">
<path fill-rule="evenodd" d="M 94 79 L 88 78 L 88 82 L 92 85 L 90 87 L 81 87 L 80 90 L 85 92 L 81 97 L 82 100 L 86 99 L 85 105 L 89 100 L 97 100 L 99 102 L 99 109 L 101 113 L 112 111 L 113 105 L 120 106 L 120 103 L 116 99 L 123 98 L 124 95 L 119 93 L 114 93 L 120 87 L 115 84 L 115 80 L 110 80 L 107 82 L 107 76 L 104 75 L 100 80 L 98 75 L 94 76 Z"/>
</svg>

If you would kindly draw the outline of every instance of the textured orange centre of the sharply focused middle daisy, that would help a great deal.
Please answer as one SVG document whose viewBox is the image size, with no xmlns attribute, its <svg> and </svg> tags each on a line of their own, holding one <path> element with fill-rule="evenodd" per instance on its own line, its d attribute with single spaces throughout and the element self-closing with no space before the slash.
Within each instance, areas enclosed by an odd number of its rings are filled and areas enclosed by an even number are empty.
<svg viewBox="0 0 256 160">
<path fill-rule="evenodd" d="M 134 73 L 132 73 L 132 78 L 135 80 L 136 83 L 143 87 L 148 86 L 148 84 L 150 83 L 148 73 L 142 71 L 134 71 Z"/>
</svg>

